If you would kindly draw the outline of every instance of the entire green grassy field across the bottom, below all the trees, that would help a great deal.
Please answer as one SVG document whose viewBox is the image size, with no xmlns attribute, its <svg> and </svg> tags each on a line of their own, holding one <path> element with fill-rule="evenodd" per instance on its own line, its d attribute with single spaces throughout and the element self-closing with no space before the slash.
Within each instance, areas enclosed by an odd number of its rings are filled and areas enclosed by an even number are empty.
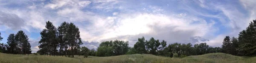
<svg viewBox="0 0 256 63">
<path fill-rule="evenodd" d="M 45 55 L 12 55 L 0 53 L 0 63 L 256 63 L 256 57 L 239 57 L 224 53 L 167 58 L 155 55 L 119 55 L 111 57 L 66 58 Z"/>
</svg>

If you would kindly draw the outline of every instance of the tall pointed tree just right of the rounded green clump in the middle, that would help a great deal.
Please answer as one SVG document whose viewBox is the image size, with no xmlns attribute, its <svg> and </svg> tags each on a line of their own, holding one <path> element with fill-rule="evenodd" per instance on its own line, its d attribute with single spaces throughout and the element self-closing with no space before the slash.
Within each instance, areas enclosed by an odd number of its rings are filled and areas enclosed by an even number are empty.
<svg viewBox="0 0 256 63">
<path fill-rule="evenodd" d="M 136 44 L 134 44 L 134 49 L 136 50 L 136 53 L 139 54 L 145 54 L 147 53 L 146 49 L 145 49 L 145 38 L 138 38 L 138 41 L 136 42 Z"/>
</svg>

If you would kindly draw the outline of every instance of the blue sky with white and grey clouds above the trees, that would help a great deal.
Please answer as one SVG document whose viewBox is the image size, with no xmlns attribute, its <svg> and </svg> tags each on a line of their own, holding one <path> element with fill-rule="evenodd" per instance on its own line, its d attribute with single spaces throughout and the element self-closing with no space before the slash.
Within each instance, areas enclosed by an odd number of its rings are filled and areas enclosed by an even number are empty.
<svg viewBox="0 0 256 63">
<path fill-rule="evenodd" d="M 151 37 L 173 43 L 221 47 L 225 36 L 238 37 L 256 19 L 256 0 L 0 0 L 0 33 L 23 30 L 37 52 L 46 21 L 58 27 L 73 22 L 81 46 L 96 49 L 102 41 Z"/>
</svg>

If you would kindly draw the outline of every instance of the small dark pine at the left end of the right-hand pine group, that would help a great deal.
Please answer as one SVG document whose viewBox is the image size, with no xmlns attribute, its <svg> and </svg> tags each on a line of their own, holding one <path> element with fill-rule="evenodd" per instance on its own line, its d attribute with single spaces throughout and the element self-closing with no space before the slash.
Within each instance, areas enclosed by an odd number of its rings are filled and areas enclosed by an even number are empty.
<svg viewBox="0 0 256 63">
<path fill-rule="evenodd" d="M 230 37 L 229 36 L 226 36 L 222 42 L 222 52 L 224 53 L 228 53 L 228 54 L 231 54 L 231 46 L 232 46 L 232 43 L 230 41 Z"/>
</svg>

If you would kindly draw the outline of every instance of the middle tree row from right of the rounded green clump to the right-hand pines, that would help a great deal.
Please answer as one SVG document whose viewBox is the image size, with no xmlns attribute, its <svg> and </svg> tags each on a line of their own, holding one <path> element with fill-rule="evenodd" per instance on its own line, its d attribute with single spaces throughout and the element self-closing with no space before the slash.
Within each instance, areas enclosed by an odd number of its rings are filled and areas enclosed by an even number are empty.
<svg viewBox="0 0 256 63">
<path fill-rule="evenodd" d="M 180 44 L 174 43 L 167 46 L 166 41 L 145 40 L 144 37 L 138 38 L 134 47 L 130 47 L 127 54 L 152 54 L 166 57 L 185 57 L 189 55 L 203 55 L 207 53 L 220 52 L 220 47 L 209 47 L 206 43 L 195 44 L 194 47 L 191 43 Z"/>
</svg>

